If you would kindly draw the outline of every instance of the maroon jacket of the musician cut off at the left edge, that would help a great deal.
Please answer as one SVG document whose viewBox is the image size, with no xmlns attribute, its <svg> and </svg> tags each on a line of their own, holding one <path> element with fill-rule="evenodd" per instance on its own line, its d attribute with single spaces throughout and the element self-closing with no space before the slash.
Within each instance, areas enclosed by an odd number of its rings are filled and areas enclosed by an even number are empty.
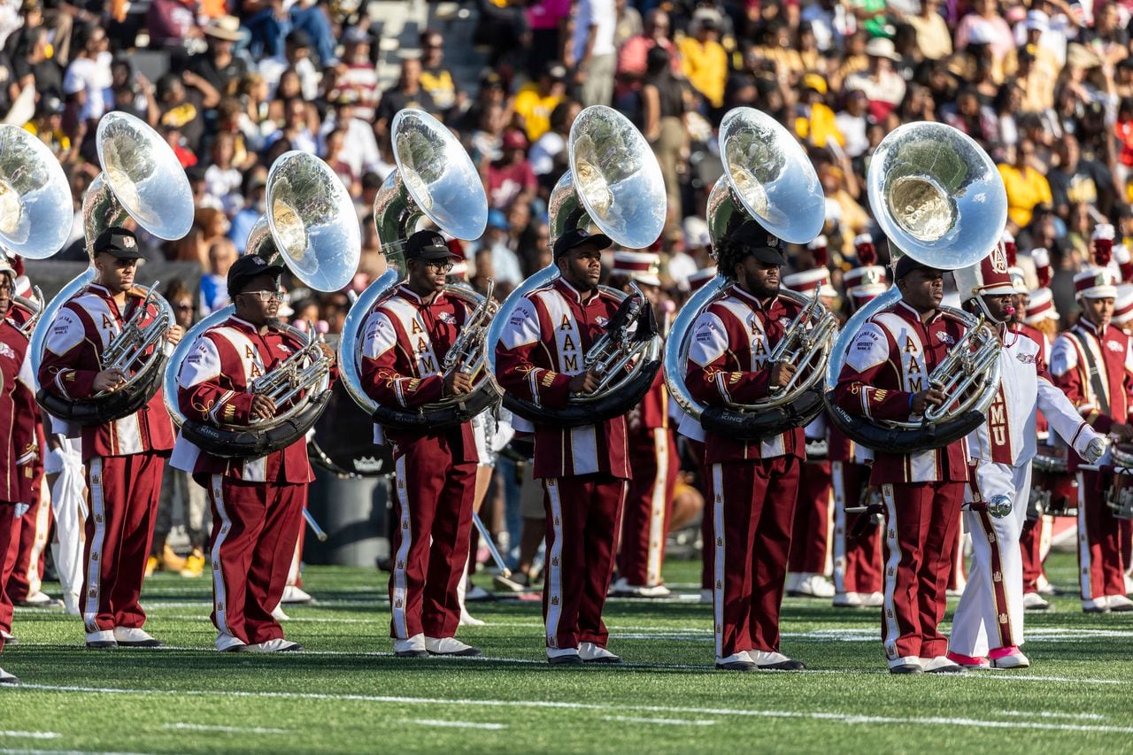
<svg viewBox="0 0 1133 755">
<path fill-rule="evenodd" d="M 0 501 L 32 502 L 36 459 L 35 418 L 39 407 L 31 388 L 27 337 L 10 321 L 0 321 Z M 10 523 L 0 521 L 0 526 Z"/>
</svg>

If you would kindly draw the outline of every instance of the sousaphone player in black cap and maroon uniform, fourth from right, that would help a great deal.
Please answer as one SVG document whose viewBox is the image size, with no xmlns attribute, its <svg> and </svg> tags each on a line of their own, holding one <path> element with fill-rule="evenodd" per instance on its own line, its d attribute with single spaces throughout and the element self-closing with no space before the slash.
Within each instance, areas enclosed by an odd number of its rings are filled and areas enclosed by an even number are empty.
<svg viewBox="0 0 1133 755">
<path fill-rule="evenodd" d="M 404 255 L 408 279 L 366 321 L 361 381 L 380 404 L 410 408 L 468 393 L 472 383 L 459 371 L 441 372 L 469 316 L 461 300 L 444 294 L 455 255 L 433 230 L 410 236 Z M 399 526 L 390 544 L 394 654 L 480 655 L 455 638 L 479 459 L 471 423 L 426 433 L 380 432 L 392 444 L 397 469 Z"/>
</svg>

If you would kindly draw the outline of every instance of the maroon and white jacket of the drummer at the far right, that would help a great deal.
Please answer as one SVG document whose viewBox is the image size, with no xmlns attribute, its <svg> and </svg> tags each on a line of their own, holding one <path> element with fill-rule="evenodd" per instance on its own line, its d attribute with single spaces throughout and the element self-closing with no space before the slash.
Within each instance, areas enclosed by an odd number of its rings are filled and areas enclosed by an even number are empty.
<svg viewBox="0 0 1133 755">
<path fill-rule="evenodd" d="M 1096 379 L 1091 379 L 1091 367 L 1097 370 Z M 1099 433 L 1133 418 L 1133 342 L 1124 331 L 1107 325 L 1099 332 L 1093 323 L 1080 319 L 1055 340 L 1050 376 Z M 1073 455 L 1071 470 L 1076 461 Z"/>
</svg>

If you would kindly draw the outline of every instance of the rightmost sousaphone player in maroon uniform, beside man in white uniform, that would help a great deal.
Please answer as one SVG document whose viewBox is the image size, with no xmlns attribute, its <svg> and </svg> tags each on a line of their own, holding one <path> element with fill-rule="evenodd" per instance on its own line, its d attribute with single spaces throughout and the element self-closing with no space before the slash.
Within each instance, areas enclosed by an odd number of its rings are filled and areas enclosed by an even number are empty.
<svg viewBox="0 0 1133 755">
<path fill-rule="evenodd" d="M 901 300 L 875 314 L 850 346 L 835 400 L 855 416 L 909 419 L 946 397 L 926 384 L 963 325 L 945 317 L 944 275 L 910 256 L 894 270 Z M 952 552 L 968 463 L 964 441 L 918 453 L 877 452 L 870 483 L 885 504 L 881 638 L 892 673 L 963 671 L 945 653 Z"/>
</svg>

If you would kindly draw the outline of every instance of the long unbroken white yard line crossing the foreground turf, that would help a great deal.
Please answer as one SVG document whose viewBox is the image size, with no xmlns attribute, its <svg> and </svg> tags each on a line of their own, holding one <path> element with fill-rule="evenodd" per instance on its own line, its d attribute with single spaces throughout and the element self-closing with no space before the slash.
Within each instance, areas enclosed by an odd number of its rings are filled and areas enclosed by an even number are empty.
<svg viewBox="0 0 1133 755">
<path fill-rule="evenodd" d="M 973 677 L 979 678 L 979 677 Z M 1127 684 L 1114 681 L 1114 684 Z M 1042 729 L 1048 731 L 1097 731 L 1110 733 L 1133 733 L 1133 727 L 1115 727 L 1105 724 L 1081 724 L 1081 723 L 1043 723 L 1038 721 L 996 721 L 986 719 L 969 718 L 945 718 L 945 716 L 886 716 L 886 715 L 861 715 L 858 713 L 838 713 L 823 711 L 752 711 L 742 709 L 715 709 L 715 707 L 675 707 L 671 705 L 619 705 L 616 703 L 570 703 L 556 701 L 529 701 L 529 699 L 467 699 L 467 698 L 444 698 L 444 697 L 402 697 L 393 695 L 352 695 L 352 694 L 330 694 L 330 693 L 288 693 L 288 692 L 236 692 L 236 690 L 187 690 L 187 689 L 125 689 L 103 687 L 78 687 L 57 685 L 23 685 L 28 689 L 43 689 L 49 692 L 83 693 L 97 695 L 170 695 L 170 696 L 201 696 L 201 697 L 235 697 L 253 699 L 306 699 L 306 701 L 330 701 L 330 702 L 359 702 L 359 703 L 390 703 L 395 705 L 452 705 L 457 707 L 528 707 L 528 709 L 552 709 L 552 710 L 577 710 L 577 711 L 602 711 L 622 710 L 641 713 L 675 713 L 683 715 L 729 715 L 739 719 L 763 718 L 763 719 L 812 719 L 820 721 L 833 721 L 838 723 L 914 723 L 936 724 L 951 727 L 968 727 L 976 729 Z"/>
</svg>

